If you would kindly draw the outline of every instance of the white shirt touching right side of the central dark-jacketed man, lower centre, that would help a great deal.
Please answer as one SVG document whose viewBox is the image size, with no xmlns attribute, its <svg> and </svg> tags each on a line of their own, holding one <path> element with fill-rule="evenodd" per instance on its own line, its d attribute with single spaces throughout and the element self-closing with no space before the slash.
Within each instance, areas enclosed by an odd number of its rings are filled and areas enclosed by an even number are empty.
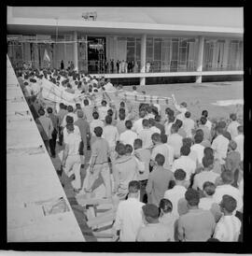
<svg viewBox="0 0 252 256">
<path fill-rule="evenodd" d="M 181 198 L 185 197 L 185 193 L 187 192 L 187 189 L 184 186 L 181 185 L 175 185 L 173 189 L 167 190 L 164 192 L 163 198 L 169 199 L 173 204 L 173 210 L 172 213 L 175 216 L 179 216 L 177 212 L 177 203 Z"/>
</svg>

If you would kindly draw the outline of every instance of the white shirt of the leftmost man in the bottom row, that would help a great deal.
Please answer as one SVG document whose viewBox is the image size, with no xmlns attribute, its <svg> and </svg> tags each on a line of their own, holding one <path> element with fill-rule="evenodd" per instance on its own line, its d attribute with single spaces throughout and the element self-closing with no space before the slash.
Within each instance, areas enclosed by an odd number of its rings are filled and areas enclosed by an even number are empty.
<svg viewBox="0 0 252 256">
<path fill-rule="evenodd" d="M 145 204 L 136 198 L 120 201 L 114 227 L 120 230 L 120 241 L 135 242 L 136 235 L 143 225 L 142 206 Z"/>
</svg>

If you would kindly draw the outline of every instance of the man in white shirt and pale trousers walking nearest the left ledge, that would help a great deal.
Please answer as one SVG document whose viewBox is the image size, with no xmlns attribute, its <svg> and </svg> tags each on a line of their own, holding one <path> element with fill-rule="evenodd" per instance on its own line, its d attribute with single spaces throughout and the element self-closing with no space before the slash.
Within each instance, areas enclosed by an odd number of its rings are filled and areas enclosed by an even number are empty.
<svg viewBox="0 0 252 256">
<path fill-rule="evenodd" d="M 80 135 L 74 134 L 74 125 L 68 123 L 66 125 L 66 130 L 68 133 L 67 139 L 64 140 L 64 150 L 63 150 L 63 168 L 65 174 L 70 177 L 72 174 L 75 175 L 75 179 L 72 181 L 72 185 L 76 191 L 81 188 L 80 180 L 80 156 L 78 153 L 79 143 L 81 141 Z"/>
</svg>

